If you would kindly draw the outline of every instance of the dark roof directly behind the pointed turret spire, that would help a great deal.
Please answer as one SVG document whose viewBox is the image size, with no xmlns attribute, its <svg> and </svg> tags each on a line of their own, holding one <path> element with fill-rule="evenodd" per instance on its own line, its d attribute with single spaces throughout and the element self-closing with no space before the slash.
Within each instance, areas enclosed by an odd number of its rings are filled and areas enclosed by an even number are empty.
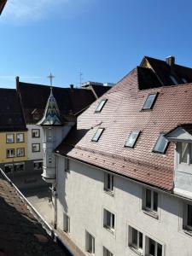
<svg viewBox="0 0 192 256">
<path fill-rule="evenodd" d="M 44 114 L 44 108 L 49 98 L 50 87 L 42 84 L 19 83 L 20 101 L 26 124 L 36 124 Z M 53 94 L 61 112 L 62 121 L 79 113 L 96 100 L 93 92 L 86 89 L 54 87 Z M 34 113 L 39 114 L 34 119 Z"/>
</svg>

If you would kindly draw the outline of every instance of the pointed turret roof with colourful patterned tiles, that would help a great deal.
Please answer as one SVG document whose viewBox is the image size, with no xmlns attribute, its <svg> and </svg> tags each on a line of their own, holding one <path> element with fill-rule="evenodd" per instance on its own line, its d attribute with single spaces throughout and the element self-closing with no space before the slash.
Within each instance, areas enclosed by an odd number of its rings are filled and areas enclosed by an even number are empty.
<svg viewBox="0 0 192 256">
<path fill-rule="evenodd" d="M 60 111 L 57 106 L 55 97 L 53 96 L 52 87 L 50 88 L 50 96 L 47 101 L 46 108 L 44 110 L 43 118 L 38 122 L 37 125 L 42 126 L 61 126 L 63 125 L 60 118 Z"/>
</svg>

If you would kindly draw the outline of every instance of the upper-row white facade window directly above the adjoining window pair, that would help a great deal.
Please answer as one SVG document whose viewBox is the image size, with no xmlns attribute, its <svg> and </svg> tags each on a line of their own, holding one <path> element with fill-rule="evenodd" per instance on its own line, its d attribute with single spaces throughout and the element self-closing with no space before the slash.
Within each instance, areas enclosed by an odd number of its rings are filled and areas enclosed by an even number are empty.
<svg viewBox="0 0 192 256">
<path fill-rule="evenodd" d="M 157 214 L 158 210 L 158 193 L 151 189 L 145 189 L 144 191 L 144 209 Z"/>
</svg>

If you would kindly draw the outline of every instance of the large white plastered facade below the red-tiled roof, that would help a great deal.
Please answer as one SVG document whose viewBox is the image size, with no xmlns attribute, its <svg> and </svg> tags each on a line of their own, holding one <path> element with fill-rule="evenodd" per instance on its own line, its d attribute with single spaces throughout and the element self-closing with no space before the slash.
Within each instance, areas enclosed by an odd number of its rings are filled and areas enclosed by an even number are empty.
<svg viewBox="0 0 192 256">
<path fill-rule="evenodd" d="M 85 230 L 96 238 L 96 255 L 107 247 L 114 256 L 137 255 L 128 247 L 128 224 L 165 245 L 165 256 L 192 255 L 192 237 L 182 230 L 183 201 L 160 193 L 157 220 L 142 210 L 143 186 L 114 177 L 114 196 L 103 191 L 104 172 L 70 160 L 64 172 L 64 158 L 58 157 L 58 228 L 63 212 L 70 217 L 70 237 L 84 251 Z M 115 214 L 115 234 L 103 228 L 103 207 Z"/>
</svg>

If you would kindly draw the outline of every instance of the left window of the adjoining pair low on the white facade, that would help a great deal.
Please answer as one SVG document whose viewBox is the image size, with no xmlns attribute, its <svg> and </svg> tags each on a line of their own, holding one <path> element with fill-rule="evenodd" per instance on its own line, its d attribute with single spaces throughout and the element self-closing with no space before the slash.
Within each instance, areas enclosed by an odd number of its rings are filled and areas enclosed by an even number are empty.
<svg viewBox="0 0 192 256">
<path fill-rule="evenodd" d="M 129 227 L 129 247 L 143 254 L 143 233 Z"/>
</svg>

